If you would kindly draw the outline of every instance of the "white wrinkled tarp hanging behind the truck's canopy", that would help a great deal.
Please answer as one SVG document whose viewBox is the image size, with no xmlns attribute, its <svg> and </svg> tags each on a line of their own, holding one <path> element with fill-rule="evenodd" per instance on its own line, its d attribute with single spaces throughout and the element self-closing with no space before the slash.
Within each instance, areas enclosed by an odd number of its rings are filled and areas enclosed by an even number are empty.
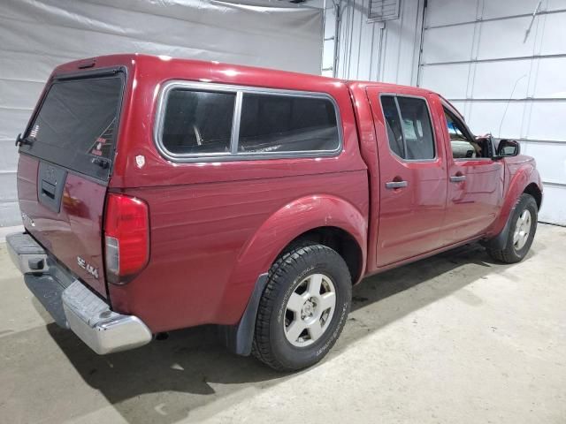
<svg viewBox="0 0 566 424">
<path fill-rule="evenodd" d="M 320 73 L 319 9 L 261 0 L 1 3 L 0 226 L 21 223 L 14 140 L 57 64 L 139 52 Z"/>
</svg>

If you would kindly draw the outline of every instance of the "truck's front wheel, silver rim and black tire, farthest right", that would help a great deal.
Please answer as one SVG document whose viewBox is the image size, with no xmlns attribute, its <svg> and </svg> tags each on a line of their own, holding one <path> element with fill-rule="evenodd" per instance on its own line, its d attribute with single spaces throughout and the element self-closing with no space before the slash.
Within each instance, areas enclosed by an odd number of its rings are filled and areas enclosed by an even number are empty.
<svg viewBox="0 0 566 424">
<path fill-rule="evenodd" d="M 498 261 L 516 263 L 522 261 L 532 245 L 537 231 L 537 202 L 531 194 L 523 193 L 509 217 L 509 234 L 502 249 L 487 245 L 487 253 Z"/>
</svg>

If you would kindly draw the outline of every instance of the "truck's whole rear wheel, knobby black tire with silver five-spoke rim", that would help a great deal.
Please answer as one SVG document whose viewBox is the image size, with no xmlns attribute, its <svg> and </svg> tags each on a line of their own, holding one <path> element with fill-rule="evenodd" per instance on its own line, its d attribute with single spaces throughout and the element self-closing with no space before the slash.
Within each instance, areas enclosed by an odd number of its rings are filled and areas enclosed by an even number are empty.
<svg viewBox="0 0 566 424">
<path fill-rule="evenodd" d="M 346 262 L 330 247 L 301 246 L 283 254 L 259 303 L 256 358 L 280 371 L 322 360 L 346 322 L 351 286 Z"/>
</svg>

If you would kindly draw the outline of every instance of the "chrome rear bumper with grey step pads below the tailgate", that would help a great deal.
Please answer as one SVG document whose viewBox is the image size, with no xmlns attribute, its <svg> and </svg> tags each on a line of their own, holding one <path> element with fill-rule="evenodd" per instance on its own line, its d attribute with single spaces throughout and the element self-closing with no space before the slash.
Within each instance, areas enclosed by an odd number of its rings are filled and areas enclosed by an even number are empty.
<svg viewBox="0 0 566 424">
<path fill-rule="evenodd" d="M 99 355 L 125 351 L 151 341 L 151 331 L 134 315 L 118 314 L 70 275 L 29 234 L 6 237 L 12 261 L 27 287 L 61 327 L 72 329 Z"/>
</svg>

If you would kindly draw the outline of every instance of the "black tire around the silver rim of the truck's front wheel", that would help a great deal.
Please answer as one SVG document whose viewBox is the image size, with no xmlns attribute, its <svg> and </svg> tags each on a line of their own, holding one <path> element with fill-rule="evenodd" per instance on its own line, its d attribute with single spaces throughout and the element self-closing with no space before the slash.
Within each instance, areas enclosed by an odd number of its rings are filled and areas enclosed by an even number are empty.
<svg viewBox="0 0 566 424">
<path fill-rule="evenodd" d="M 524 243 L 524 246 L 517 248 L 513 240 L 513 235 L 517 227 L 518 219 L 523 215 L 524 211 L 528 210 L 531 214 L 531 225 L 528 238 Z M 503 248 L 496 248 L 490 246 L 487 243 L 486 249 L 487 253 L 495 260 L 505 262 L 505 263 L 516 263 L 522 261 L 532 245 L 532 239 L 534 239 L 535 232 L 537 231 L 537 216 L 539 208 L 537 207 L 537 202 L 534 200 L 531 194 L 523 193 L 519 200 L 516 202 L 516 207 L 513 210 L 511 216 L 509 216 L 510 222 L 507 226 L 507 243 Z M 504 230 L 505 231 L 505 230 Z"/>
</svg>

